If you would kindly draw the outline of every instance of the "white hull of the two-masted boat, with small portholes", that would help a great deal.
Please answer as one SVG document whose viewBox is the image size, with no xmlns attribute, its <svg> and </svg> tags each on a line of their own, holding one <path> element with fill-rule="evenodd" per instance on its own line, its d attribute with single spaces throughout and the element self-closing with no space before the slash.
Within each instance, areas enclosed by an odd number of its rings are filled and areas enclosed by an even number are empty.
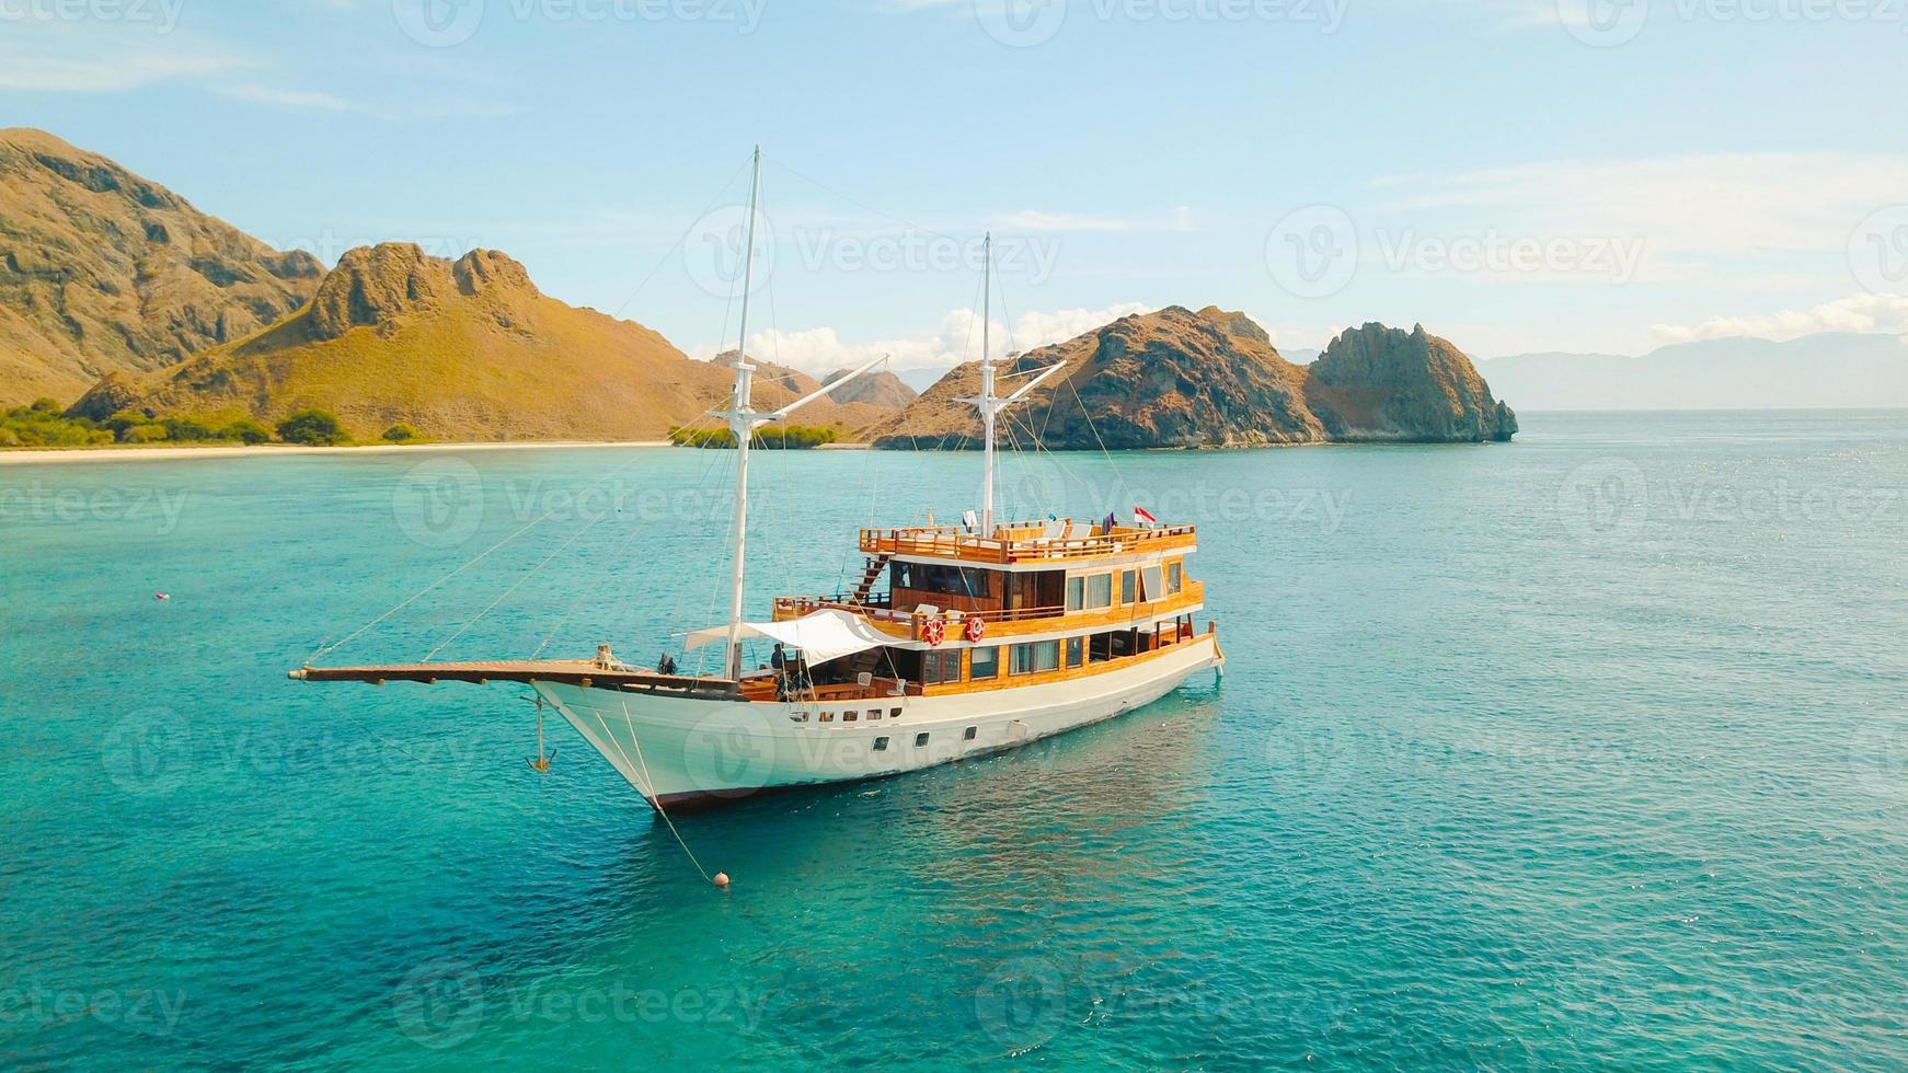
<svg viewBox="0 0 1908 1073">
<path fill-rule="evenodd" d="M 1221 659 L 1208 633 L 1076 678 L 824 703 L 738 703 L 550 680 L 534 688 L 643 799 L 668 808 L 1013 749 L 1152 703 Z M 870 719 L 876 711 L 880 719 Z"/>
</svg>

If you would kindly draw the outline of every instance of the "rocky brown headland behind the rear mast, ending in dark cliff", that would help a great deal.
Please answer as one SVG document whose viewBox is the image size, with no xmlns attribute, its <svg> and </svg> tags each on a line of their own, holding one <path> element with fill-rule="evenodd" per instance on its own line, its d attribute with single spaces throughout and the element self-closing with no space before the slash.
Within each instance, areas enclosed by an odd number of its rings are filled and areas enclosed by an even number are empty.
<svg viewBox="0 0 1908 1073">
<path fill-rule="evenodd" d="M 1469 358 L 1423 328 L 1368 324 L 1339 335 L 1318 362 L 1296 366 L 1252 318 L 1173 305 L 1007 362 L 1004 391 L 1053 362 L 1067 372 L 1009 410 L 1007 436 L 1120 450 L 1504 440 L 1517 431 Z M 872 429 L 876 446 L 979 446 L 981 419 L 958 402 L 979 385 L 977 362 L 956 368 Z"/>
</svg>

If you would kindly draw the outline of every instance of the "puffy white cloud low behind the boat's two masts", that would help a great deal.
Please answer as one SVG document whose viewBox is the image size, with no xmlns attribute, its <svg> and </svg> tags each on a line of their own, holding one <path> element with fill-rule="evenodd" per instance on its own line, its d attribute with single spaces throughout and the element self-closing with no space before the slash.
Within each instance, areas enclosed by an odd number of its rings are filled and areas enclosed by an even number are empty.
<svg viewBox="0 0 1908 1073">
<path fill-rule="evenodd" d="M 992 326 L 994 354 L 1004 356 L 1009 351 L 1032 351 L 1047 343 L 1061 343 L 1120 316 L 1149 309 L 1128 301 L 1105 309 L 1023 313 L 1011 326 L 996 320 Z M 706 351 L 704 356 L 708 353 L 714 351 Z M 981 318 L 971 309 L 956 309 L 941 318 L 939 328 L 923 335 L 864 343 L 843 341 L 834 328 L 756 332 L 748 337 L 748 353 L 815 375 L 859 366 L 880 354 L 889 354 L 889 372 L 950 368 L 981 356 Z"/>
</svg>

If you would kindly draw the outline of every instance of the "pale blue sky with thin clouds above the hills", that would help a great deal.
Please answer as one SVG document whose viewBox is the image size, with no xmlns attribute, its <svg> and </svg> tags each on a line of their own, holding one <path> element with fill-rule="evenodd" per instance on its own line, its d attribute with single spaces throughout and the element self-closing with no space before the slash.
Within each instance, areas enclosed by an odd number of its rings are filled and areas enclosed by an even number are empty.
<svg viewBox="0 0 1908 1073">
<path fill-rule="evenodd" d="M 986 229 L 1021 347 L 1168 303 L 1475 356 L 1908 332 L 1902 101 L 1904 0 L 0 0 L 0 126 L 698 356 L 759 141 L 752 349 L 815 370 L 973 353 Z"/>
</svg>

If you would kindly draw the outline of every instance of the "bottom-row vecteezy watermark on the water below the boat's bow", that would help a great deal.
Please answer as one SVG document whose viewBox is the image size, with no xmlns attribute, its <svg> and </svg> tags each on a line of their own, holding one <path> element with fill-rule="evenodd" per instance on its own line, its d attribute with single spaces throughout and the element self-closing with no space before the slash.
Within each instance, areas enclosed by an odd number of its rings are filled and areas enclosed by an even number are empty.
<svg viewBox="0 0 1908 1073">
<path fill-rule="evenodd" d="M 565 987 L 544 982 L 487 983 L 460 961 L 431 961 L 404 974 L 391 989 L 391 1016 L 401 1033 L 429 1050 L 448 1050 L 477 1035 L 487 1016 L 500 1022 L 563 1023 L 683 1023 L 761 1027 L 769 991 L 736 987 L 639 987 L 628 982 Z"/>
</svg>

